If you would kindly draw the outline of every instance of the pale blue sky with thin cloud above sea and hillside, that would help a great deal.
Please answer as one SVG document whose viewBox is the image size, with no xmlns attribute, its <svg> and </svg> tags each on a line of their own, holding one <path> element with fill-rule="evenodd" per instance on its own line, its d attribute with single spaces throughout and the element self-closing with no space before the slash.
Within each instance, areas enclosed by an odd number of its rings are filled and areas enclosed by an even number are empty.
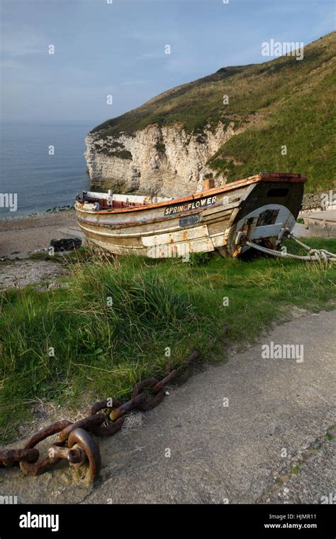
<svg viewBox="0 0 336 539">
<path fill-rule="evenodd" d="M 269 60 L 264 41 L 306 45 L 335 29 L 334 0 L 0 0 L 0 7 L 2 121 L 95 126 L 220 67 Z"/>
</svg>

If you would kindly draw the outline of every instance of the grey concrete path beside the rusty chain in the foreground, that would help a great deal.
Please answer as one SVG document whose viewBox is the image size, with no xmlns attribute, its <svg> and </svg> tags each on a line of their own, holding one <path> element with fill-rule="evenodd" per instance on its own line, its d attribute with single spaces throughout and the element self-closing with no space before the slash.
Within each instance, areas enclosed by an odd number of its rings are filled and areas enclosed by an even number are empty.
<svg viewBox="0 0 336 539">
<path fill-rule="evenodd" d="M 263 359 L 262 346 L 271 342 L 303 345 L 303 361 L 302 349 L 296 359 Z M 133 426 L 142 426 L 100 439 L 103 469 L 94 489 L 74 488 L 67 466 L 37 478 L 0 469 L 0 494 L 16 494 L 18 503 L 330 499 L 336 494 L 335 344 L 336 311 L 278 326 L 135 416 Z"/>
</svg>

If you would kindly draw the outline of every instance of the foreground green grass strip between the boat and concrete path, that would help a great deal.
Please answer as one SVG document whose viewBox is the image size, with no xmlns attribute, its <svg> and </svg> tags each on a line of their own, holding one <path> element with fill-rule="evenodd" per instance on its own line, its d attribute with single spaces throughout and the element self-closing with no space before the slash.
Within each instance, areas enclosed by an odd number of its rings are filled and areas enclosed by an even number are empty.
<svg viewBox="0 0 336 539">
<path fill-rule="evenodd" d="M 336 240 L 310 243 L 336 251 Z M 1 293 L 1 442 L 32 420 L 34 403 L 126 400 L 138 381 L 164 375 L 167 360 L 179 366 L 199 349 L 203 362 L 223 361 L 230 345 L 253 342 L 291 306 L 336 304 L 335 265 L 214 254 L 71 268 L 67 288 Z"/>
</svg>

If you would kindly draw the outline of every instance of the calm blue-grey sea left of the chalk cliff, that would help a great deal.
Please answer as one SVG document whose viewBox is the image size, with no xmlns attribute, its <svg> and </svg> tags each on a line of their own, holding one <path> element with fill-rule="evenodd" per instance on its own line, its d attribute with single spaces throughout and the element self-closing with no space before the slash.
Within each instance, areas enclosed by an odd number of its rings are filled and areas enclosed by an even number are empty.
<svg viewBox="0 0 336 539">
<path fill-rule="evenodd" d="M 82 122 L 1 124 L 0 193 L 17 193 L 17 210 L 0 207 L 0 218 L 74 204 L 77 191 L 89 185 L 83 153 L 92 127 Z M 54 156 L 49 146 L 55 147 Z"/>
</svg>

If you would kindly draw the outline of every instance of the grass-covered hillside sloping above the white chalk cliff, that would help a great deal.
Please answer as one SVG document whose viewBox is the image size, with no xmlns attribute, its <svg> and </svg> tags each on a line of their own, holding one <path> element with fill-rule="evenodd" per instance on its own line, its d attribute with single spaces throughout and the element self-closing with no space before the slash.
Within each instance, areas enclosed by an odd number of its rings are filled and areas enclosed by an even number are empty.
<svg viewBox="0 0 336 539">
<path fill-rule="evenodd" d="M 225 67 L 213 75 L 170 89 L 138 109 L 108 120 L 94 131 L 103 137 L 132 134 L 149 124 L 179 122 L 188 132 L 233 122 L 240 134 L 208 162 L 229 181 L 260 170 L 306 173 L 308 191 L 335 185 L 332 151 L 335 116 L 336 33 L 310 43 L 301 61 L 281 57 L 258 65 Z M 228 95 L 229 104 L 223 104 Z M 287 155 L 281 155 L 281 147 Z"/>
</svg>

